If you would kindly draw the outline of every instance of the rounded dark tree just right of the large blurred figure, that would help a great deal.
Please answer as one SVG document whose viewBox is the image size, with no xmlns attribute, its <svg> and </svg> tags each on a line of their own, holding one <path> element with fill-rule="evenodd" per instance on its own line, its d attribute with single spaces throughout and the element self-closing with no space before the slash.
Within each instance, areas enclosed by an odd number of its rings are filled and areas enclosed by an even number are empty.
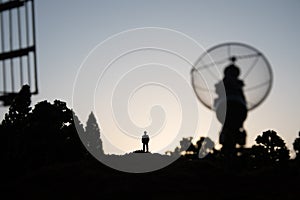
<svg viewBox="0 0 300 200">
<path fill-rule="evenodd" d="M 273 130 L 263 132 L 257 136 L 256 143 L 251 148 L 251 161 L 254 168 L 263 165 L 282 165 L 289 160 L 289 150 L 283 139 Z"/>
</svg>

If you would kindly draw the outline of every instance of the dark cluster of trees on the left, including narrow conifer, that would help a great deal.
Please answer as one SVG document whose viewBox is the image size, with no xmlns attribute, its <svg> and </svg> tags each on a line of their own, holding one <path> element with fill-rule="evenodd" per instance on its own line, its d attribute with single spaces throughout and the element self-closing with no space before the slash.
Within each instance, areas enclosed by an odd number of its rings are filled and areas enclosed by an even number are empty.
<svg viewBox="0 0 300 200">
<path fill-rule="evenodd" d="M 90 159 L 86 148 L 103 154 L 93 113 L 84 128 L 65 102 L 41 101 L 34 108 L 30 104 L 29 88 L 23 86 L 0 125 L 2 180 L 43 166 Z"/>
</svg>

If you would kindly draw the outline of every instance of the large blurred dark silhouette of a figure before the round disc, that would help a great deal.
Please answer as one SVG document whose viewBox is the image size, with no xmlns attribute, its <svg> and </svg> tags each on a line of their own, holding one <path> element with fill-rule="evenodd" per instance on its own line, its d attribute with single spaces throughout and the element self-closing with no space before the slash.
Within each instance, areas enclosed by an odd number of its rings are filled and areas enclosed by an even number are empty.
<svg viewBox="0 0 300 200">
<path fill-rule="evenodd" d="M 218 98 L 214 107 L 218 120 L 222 123 L 219 142 L 227 158 L 236 154 L 236 144 L 245 145 L 246 131 L 243 128 L 247 117 L 247 103 L 243 92 L 244 82 L 239 79 L 240 69 L 235 65 L 236 58 L 224 69 L 224 78 L 215 85 Z"/>
</svg>

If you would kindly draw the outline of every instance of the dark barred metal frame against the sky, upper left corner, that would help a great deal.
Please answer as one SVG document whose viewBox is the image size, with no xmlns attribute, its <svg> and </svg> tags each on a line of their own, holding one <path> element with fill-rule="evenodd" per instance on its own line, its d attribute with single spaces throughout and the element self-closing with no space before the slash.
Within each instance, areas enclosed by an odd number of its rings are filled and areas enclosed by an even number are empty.
<svg viewBox="0 0 300 200">
<path fill-rule="evenodd" d="M 34 0 L 0 0 L 0 77 L 2 106 L 23 85 L 38 94 Z"/>
</svg>

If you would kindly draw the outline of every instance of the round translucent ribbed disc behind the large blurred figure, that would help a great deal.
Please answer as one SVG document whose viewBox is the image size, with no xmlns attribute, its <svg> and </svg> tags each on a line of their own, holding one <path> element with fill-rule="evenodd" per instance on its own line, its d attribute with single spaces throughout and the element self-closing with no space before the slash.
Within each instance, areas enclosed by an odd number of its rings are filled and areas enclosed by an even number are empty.
<svg viewBox="0 0 300 200">
<path fill-rule="evenodd" d="M 214 110 L 215 84 L 222 81 L 224 68 L 232 63 L 240 69 L 248 110 L 256 108 L 268 96 L 273 75 L 266 57 L 246 44 L 223 43 L 203 53 L 191 71 L 194 91 L 207 108 Z"/>
</svg>

